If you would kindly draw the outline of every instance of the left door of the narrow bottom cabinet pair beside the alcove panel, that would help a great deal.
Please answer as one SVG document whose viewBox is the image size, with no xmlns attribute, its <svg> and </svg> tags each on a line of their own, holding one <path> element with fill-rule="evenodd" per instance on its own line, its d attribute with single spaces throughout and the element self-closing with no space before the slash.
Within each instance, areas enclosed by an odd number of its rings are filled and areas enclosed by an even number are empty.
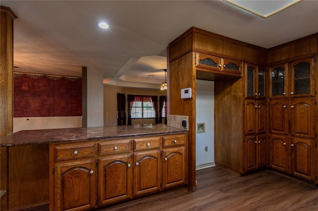
<svg viewBox="0 0 318 211">
<path fill-rule="evenodd" d="M 255 136 L 245 137 L 244 144 L 245 171 L 256 169 L 256 138 Z"/>
</svg>

